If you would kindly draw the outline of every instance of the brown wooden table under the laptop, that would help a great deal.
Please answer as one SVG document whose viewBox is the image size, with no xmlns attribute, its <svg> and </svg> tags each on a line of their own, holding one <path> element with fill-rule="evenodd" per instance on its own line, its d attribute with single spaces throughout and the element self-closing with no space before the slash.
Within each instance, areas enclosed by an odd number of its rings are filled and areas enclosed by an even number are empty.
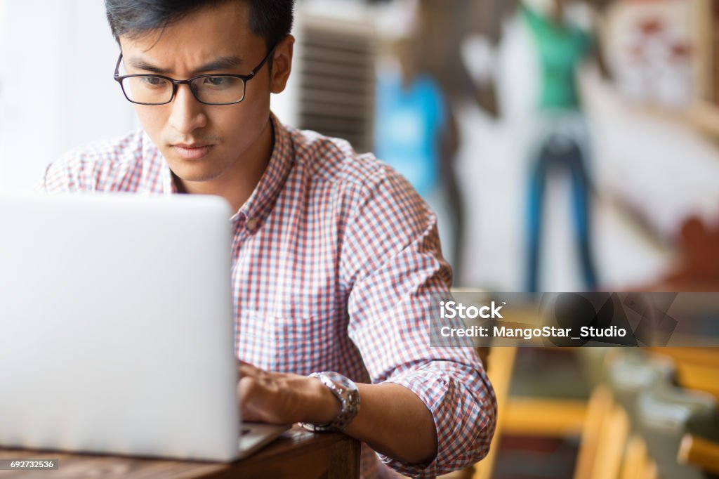
<svg viewBox="0 0 719 479">
<path fill-rule="evenodd" d="M 314 434 L 298 426 L 244 460 L 221 464 L 0 450 L 0 458 L 57 458 L 57 470 L 0 470 L 0 478 L 328 478 L 359 477 L 359 442 L 344 434 Z"/>
</svg>

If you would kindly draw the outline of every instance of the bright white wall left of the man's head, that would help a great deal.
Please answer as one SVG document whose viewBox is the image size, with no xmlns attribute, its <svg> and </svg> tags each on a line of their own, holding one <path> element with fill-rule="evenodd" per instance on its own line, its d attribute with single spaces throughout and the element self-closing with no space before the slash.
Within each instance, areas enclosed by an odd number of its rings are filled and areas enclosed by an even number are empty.
<svg viewBox="0 0 719 479">
<path fill-rule="evenodd" d="M 0 0 L 0 191 L 137 124 L 112 79 L 118 53 L 102 1 Z"/>
</svg>

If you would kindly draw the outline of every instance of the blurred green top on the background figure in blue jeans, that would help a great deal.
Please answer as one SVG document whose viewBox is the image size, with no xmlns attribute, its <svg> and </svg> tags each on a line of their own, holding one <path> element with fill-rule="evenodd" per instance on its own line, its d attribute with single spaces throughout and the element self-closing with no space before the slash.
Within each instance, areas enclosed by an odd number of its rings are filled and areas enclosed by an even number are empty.
<svg viewBox="0 0 719 479">
<path fill-rule="evenodd" d="M 577 66 L 591 47 L 591 38 L 579 27 L 534 12 L 520 3 L 539 48 L 541 67 L 541 96 L 539 109 L 580 109 L 577 89 Z"/>
</svg>

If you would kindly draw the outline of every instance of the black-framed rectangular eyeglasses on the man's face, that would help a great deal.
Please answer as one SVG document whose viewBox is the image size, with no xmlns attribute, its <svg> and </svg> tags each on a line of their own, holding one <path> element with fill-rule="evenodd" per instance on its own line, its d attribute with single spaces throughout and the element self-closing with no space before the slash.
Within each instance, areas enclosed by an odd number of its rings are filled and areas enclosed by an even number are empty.
<svg viewBox="0 0 719 479">
<path fill-rule="evenodd" d="M 275 52 L 275 47 L 277 45 L 270 48 L 265 58 L 262 58 L 260 65 L 257 65 L 249 75 L 234 75 L 231 73 L 218 75 L 211 73 L 209 75 L 193 76 L 187 80 L 175 80 L 162 75 L 120 75 L 121 51 L 120 56 L 117 58 L 113 78 L 120 84 L 125 98 L 139 105 L 168 104 L 175 98 L 179 85 L 189 86 L 192 95 L 201 104 L 232 105 L 244 100 L 247 82 L 255 78 Z"/>
</svg>

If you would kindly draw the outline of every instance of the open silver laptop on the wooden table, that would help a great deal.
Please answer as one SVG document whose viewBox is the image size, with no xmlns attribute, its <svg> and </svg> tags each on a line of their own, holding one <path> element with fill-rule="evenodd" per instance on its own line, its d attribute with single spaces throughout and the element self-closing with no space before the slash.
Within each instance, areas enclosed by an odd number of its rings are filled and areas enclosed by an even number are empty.
<svg viewBox="0 0 719 479">
<path fill-rule="evenodd" d="M 288 429 L 239 418 L 230 216 L 0 197 L 0 447 L 232 461 Z"/>
</svg>

